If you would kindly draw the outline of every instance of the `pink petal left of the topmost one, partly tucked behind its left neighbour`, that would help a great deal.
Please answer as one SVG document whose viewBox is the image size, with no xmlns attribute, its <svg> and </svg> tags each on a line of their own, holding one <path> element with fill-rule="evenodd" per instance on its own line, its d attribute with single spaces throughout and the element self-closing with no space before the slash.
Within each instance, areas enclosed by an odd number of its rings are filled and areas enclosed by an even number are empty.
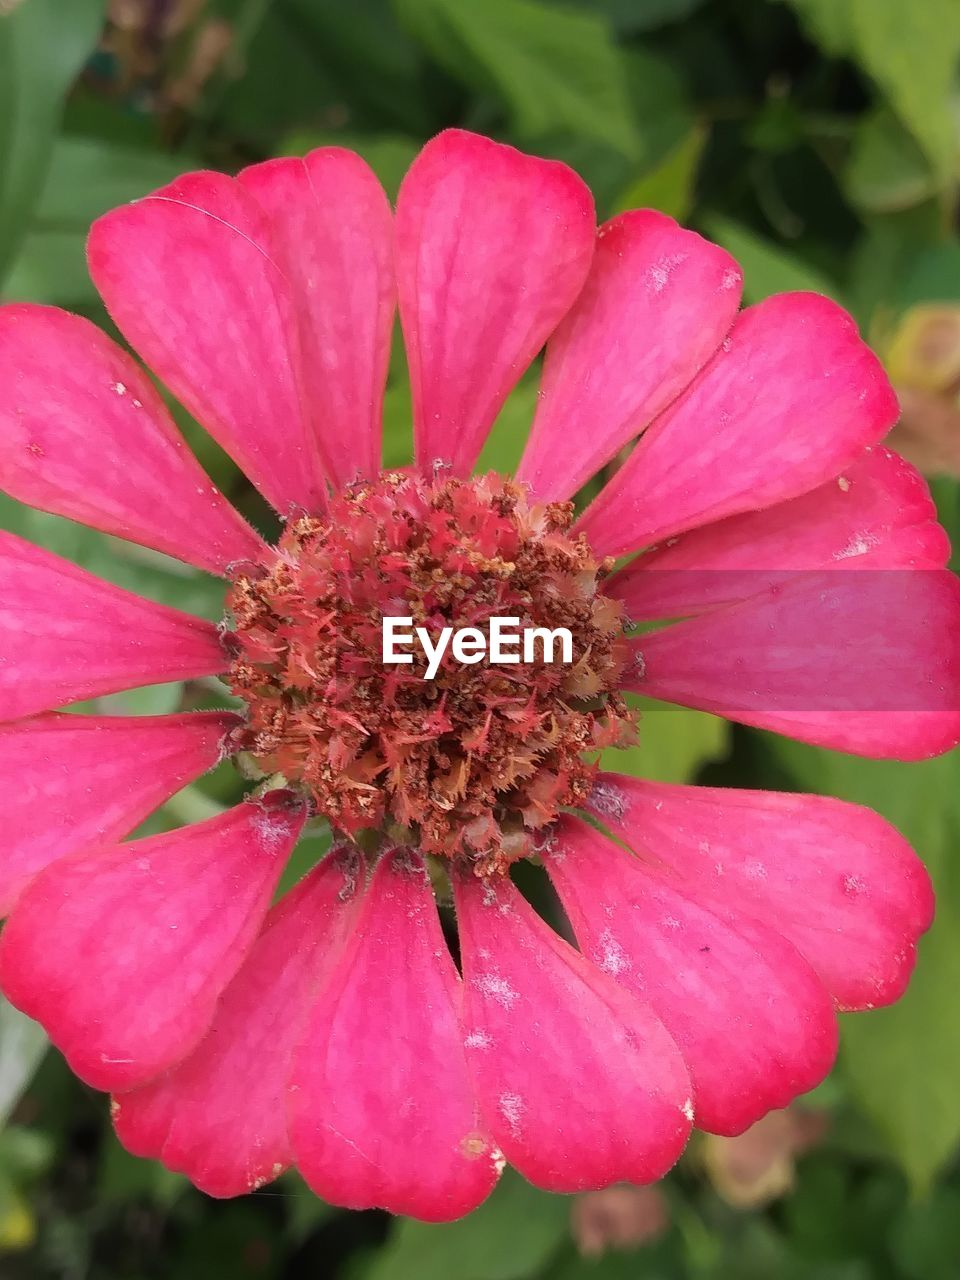
<svg viewBox="0 0 960 1280">
<path fill-rule="evenodd" d="M 287 257 L 306 403 L 326 472 L 338 485 L 375 476 L 396 303 L 383 187 L 342 147 L 266 160 L 238 180 L 270 214 Z"/>
</svg>

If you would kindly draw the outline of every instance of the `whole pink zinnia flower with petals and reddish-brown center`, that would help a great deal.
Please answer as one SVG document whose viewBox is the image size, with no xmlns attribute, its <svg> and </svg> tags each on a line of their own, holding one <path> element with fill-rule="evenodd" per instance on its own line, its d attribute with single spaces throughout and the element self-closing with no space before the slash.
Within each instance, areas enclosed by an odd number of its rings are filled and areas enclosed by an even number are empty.
<svg viewBox="0 0 960 1280">
<path fill-rule="evenodd" d="M 0 538 L 0 977 L 129 1149 L 215 1196 L 297 1165 L 440 1220 L 504 1160 L 558 1192 L 650 1181 L 691 1124 L 739 1133 L 817 1084 L 835 1011 L 904 991 L 920 861 L 854 805 L 591 762 L 636 732 L 622 690 L 877 756 L 960 739 L 960 590 L 849 316 L 805 293 L 737 314 L 717 246 L 652 211 L 598 232 L 570 169 L 457 131 L 396 216 L 326 148 L 108 214 L 90 268 L 285 521 L 268 547 L 90 323 L 3 308 L 3 488 L 229 582 L 216 628 Z M 394 293 L 417 466 L 379 475 Z M 470 479 L 544 344 L 517 483 Z M 424 681 L 381 662 L 407 613 L 566 621 L 576 662 Z M 214 675 L 242 716 L 54 710 Z M 237 751 L 269 778 L 248 803 L 119 844 Z M 333 851 L 271 906 L 308 815 Z M 507 874 L 532 855 L 577 947 Z"/>
</svg>

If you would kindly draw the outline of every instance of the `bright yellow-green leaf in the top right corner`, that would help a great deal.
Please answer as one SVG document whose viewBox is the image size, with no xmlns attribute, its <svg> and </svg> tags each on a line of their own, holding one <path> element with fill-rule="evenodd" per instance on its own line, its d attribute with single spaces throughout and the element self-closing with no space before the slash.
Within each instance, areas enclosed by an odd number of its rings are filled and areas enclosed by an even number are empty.
<svg viewBox="0 0 960 1280">
<path fill-rule="evenodd" d="M 854 56 L 945 182 L 957 175 L 951 110 L 960 58 L 956 0 L 847 0 Z"/>
</svg>

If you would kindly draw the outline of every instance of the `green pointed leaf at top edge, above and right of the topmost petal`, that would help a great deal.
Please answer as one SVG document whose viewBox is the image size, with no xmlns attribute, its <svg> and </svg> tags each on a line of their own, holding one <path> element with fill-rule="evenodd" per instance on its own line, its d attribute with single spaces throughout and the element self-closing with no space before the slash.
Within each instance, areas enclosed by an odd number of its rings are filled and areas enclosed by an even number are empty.
<svg viewBox="0 0 960 1280">
<path fill-rule="evenodd" d="M 504 102 L 522 137 L 568 131 L 639 154 L 623 63 L 600 18 L 538 0 L 394 4 L 453 77 Z"/>
</svg>

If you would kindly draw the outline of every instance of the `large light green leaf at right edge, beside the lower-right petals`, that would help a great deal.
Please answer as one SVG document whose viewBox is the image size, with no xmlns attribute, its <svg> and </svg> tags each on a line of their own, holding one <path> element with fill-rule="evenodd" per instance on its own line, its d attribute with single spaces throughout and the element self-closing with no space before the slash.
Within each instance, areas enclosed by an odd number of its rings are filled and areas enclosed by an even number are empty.
<svg viewBox="0 0 960 1280">
<path fill-rule="evenodd" d="M 911 1184 L 925 1190 L 960 1146 L 960 756 L 919 764 L 860 760 L 767 740 L 808 790 L 867 804 L 888 818 L 925 861 L 937 919 L 919 946 L 906 995 L 888 1009 L 844 1019 L 841 1065 Z"/>
</svg>

